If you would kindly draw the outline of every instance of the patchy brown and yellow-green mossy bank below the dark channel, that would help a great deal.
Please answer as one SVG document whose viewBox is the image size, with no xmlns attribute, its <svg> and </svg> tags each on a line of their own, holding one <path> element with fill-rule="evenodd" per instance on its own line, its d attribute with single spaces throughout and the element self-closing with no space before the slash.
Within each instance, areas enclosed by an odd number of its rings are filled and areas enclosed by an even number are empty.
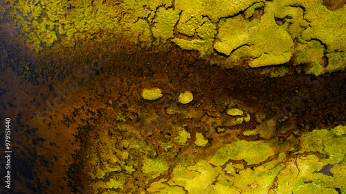
<svg viewBox="0 0 346 194">
<path fill-rule="evenodd" d="M 346 126 L 295 129 L 284 140 L 266 115 L 239 101 L 195 101 L 190 108 L 157 101 L 168 117 L 126 98 L 98 109 L 93 126 L 76 135 L 82 148 L 68 173 L 70 186 L 93 193 L 346 193 Z M 253 130 L 234 128 L 251 115 L 258 122 Z"/>
</svg>

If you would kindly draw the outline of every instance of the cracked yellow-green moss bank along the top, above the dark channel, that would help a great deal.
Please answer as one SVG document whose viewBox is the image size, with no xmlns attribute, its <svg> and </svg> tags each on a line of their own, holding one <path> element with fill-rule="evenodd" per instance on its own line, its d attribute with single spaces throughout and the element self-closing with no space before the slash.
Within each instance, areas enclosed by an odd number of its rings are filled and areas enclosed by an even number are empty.
<svg viewBox="0 0 346 194">
<path fill-rule="evenodd" d="M 163 49 L 171 42 L 226 68 L 292 60 L 298 72 L 321 75 L 346 66 L 346 6 L 331 11 L 322 0 L 6 1 L 15 25 L 37 51 L 123 39 L 143 48 Z"/>
</svg>

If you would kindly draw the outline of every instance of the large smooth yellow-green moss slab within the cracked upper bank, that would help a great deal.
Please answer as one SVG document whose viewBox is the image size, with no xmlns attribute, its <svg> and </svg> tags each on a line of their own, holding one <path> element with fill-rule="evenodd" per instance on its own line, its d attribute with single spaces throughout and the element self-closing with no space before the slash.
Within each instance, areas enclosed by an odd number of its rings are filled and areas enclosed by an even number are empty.
<svg viewBox="0 0 346 194">
<path fill-rule="evenodd" d="M 271 66 L 284 64 L 291 59 L 293 41 L 284 27 L 275 23 L 275 3 L 266 2 L 261 19 L 247 23 L 242 15 L 219 22 L 219 33 L 214 48 L 225 55 L 242 48 L 243 56 L 250 59 L 249 66 Z M 254 9 L 253 9 L 254 10 Z M 249 14 L 249 10 L 246 14 Z"/>
</svg>

